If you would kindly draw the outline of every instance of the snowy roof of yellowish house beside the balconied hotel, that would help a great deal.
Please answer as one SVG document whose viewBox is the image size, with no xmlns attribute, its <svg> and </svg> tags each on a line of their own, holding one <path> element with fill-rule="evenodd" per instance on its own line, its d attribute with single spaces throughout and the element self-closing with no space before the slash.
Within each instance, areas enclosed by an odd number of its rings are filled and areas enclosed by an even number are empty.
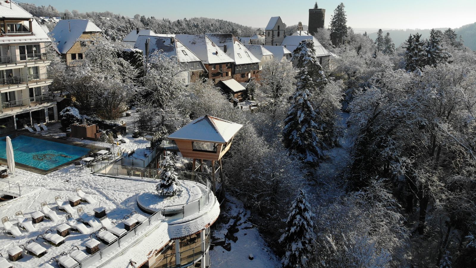
<svg viewBox="0 0 476 268">
<path fill-rule="evenodd" d="M 101 29 L 89 20 L 61 20 L 50 36 L 58 43 L 58 51 L 65 54 L 84 32 L 101 32 Z"/>
</svg>

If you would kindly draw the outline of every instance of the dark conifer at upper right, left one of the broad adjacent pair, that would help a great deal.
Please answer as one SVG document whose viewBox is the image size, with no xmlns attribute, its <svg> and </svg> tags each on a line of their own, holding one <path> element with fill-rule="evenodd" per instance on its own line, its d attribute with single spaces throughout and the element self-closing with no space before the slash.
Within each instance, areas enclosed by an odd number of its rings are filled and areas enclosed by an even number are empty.
<svg viewBox="0 0 476 268">
<path fill-rule="evenodd" d="M 405 52 L 405 69 L 408 72 L 421 71 L 426 64 L 426 47 L 425 42 L 421 41 L 421 34 L 413 34 L 408 37 L 404 48 Z"/>
</svg>

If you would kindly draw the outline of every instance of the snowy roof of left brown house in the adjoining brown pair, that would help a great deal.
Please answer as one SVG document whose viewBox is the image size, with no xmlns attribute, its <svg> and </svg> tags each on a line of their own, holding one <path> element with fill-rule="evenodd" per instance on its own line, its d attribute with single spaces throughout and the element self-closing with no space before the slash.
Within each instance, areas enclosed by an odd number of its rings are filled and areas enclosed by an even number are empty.
<svg viewBox="0 0 476 268">
<path fill-rule="evenodd" d="M 180 40 L 189 50 L 198 56 L 205 64 L 234 62 L 227 54 L 222 52 L 217 44 L 206 35 L 177 34 Z"/>
</svg>

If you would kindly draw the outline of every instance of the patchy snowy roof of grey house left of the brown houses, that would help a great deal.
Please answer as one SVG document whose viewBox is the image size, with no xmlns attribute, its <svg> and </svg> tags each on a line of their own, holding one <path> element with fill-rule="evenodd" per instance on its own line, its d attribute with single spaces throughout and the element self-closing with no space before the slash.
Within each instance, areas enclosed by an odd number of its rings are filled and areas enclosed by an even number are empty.
<svg viewBox="0 0 476 268">
<path fill-rule="evenodd" d="M 145 51 L 146 41 L 149 42 L 149 55 L 161 50 L 162 54 L 169 58 L 176 58 L 178 62 L 199 62 L 195 53 L 185 47 L 178 39 L 174 37 L 159 37 L 154 35 L 140 35 L 134 45 L 134 48 Z M 173 42 L 172 42 L 173 41 Z M 145 55 L 145 53 L 144 53 Z"/>
</svg>

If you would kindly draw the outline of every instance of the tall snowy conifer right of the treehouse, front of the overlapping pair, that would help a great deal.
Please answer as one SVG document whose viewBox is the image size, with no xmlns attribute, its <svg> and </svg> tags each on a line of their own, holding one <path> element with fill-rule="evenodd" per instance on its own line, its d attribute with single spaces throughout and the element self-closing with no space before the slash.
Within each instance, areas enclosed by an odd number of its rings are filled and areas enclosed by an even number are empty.
<svg viewBox="0 0 476 268">
<path fill-rule="evenodd" d="M 316 83 L 308 75 L 307 67 L 301 68 L 296 77 L 296 92 L 292 96 L 288 117 L 284 120 L 284 143 L 287 148 L 296 151 L 304 162 L 316 163 L 322 158 L 324 148 L 317 135 L 321 130 L 314 122 L 317 114 L 310 102 Z"/>
</svg>

